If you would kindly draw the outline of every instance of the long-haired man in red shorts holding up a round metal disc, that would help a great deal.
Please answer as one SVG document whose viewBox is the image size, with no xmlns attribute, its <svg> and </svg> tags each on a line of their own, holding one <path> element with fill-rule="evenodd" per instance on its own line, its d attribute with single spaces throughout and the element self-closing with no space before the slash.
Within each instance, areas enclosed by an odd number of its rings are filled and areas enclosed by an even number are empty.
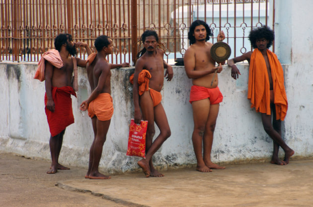
<svg viewBox="0 0 313 207">
<path fill-rule="evenodd" d="M 222 71 L 221 64 L 215 67 L 211 57 L 212 43 L 207 42 L 213 36 L 211 29 L 202 20 L 194 21 L 188 32 L 191 45 L 184 55 L 184 65 L 188 78 L 192 78 L 190 100 L 193 111 L 194 130 L 192 133 L 193 149 L 197 159 L 196 169 L 200 172 L 211 172 L 211 169 L 225 169 L 211 161 L 213 133 L 223 95 L 218 88 L 218 76 L 214 72 Z M 218 41 L 225 39 L 221 31 Z M 211 84 L 214 78 L 213 84 Z M 203 143 L 203 155 L 202 155 Z"/>
</svg>

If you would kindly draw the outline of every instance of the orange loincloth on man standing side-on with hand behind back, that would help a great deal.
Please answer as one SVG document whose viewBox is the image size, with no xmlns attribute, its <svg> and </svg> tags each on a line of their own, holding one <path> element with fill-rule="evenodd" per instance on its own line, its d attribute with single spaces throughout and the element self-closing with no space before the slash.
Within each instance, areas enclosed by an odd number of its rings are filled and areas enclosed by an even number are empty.
<svg viewBox="0 0 313 207">
<path fill-rule="evenodd" d="M 113 111 L 113 100 L 108 93 L 99 94 L 98 97 L 88 105 L 88 116 L 90 118 L 96 116 L 100 121 L 110 120 Z"/>
</svg>

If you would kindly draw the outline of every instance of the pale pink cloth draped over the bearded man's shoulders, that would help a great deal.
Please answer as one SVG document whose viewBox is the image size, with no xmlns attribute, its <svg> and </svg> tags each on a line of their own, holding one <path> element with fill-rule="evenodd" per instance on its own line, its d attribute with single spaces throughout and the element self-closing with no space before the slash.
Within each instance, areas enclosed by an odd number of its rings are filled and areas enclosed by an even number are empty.
<svg viewBox="0 0 313 207">
<path fill-rule="evenodd" d="M 42 54 L 39 62 L 38 68 L 35 72 L 34 79 L 38 79 L 40 81 L 45 80 L 45 60 L 50 62 L 54 67 L 61 68 L 63 67 L 63 61 L 61 59 L 59 51 L 52 49 Z M 78 91 L 78 69 L 76 58 L 72 57 L 73 65 L 74 65 L 74 81 L 73 81 L 73 89 L 74 91 Z"/>
</svg>

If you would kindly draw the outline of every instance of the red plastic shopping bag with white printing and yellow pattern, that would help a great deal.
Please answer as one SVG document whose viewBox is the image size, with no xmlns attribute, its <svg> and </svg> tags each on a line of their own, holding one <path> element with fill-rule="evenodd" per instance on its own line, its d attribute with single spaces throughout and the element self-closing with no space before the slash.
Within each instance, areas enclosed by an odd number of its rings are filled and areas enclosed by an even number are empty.
<svg viewBox="0 0 313 207">
<path fill-rule="evenodd" d="M 136 124 L 134 119 L 131 119 L 126 155 L 146 158 L 147 127 L 148 121 L 141 121 L 140 124 Z"/>
</svg>

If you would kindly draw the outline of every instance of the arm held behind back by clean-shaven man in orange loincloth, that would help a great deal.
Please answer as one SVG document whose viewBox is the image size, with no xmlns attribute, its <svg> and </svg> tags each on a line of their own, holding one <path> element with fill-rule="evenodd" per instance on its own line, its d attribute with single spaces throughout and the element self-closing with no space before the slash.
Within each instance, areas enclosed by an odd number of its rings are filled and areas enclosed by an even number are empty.
<svg viewBox="0 0 313 207">
<path fill-rule="evenodd" d="M 110 65 L 109 65 L 109 63 L 105 63 L 105 64 L 101 65 L 101 67 L 102 68 L 101 68 L 101 74 L 99 76 L 98 85 L 92 91 L 89 98 L 80 104 L 80 107 L 79 107 L 80 110 L 83 110 L 83 111 L 86 110 L 88 108 L 89 103 L 92 102 L 93 100 L 95 100 L 98 97 L 98 95 L 100 93 L 102 93 L 102 91 L 103 91 L 105 81 L 106 81 L 108 73 L 110 71 Z"/>
</svg>

